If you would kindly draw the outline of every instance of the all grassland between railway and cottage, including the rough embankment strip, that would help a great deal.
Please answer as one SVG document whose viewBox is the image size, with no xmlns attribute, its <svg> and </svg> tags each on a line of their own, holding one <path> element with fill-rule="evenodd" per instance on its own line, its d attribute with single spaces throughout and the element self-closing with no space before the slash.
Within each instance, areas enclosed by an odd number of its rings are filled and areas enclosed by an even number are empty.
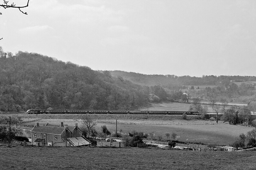
<svg viewBox="0 0 256 170">
<path fill-rule="evenodd" d="M 23 125 L 31 129 L 36 122 L 41 125 L 50 124 L 68 124 L 74 126 L 78 123 L 82 126 L 81 118 L 84 115 L 22 115 Z M 122 129 L 122 134 L 129 134 L 132 131 L 142 131 L 144 133 L 155 134 L 154 138 L 162 136 L 166 139 L 165 133 L 175 132 L 180 136 L 179 140 L 184 142 L 203 142 L 212 144 L 232 144 L 238 138 L 239 134 L 247 133 L 252 127 L 234 126 L 229 124 L 216 124 L 215 121 L 203 120 L 179 120 L 180 116 L 174 115 L 89 115 L 97 122 L 96 130 L 101 131 L 101 126 L 106 125 L 108 130 L 114 134 L 116 131 L 116 119 L 118 122 L 117 130 Z M 100 119 L 101 118 L 101 119 Z M 34 121 L 33 121 L 34 120 Z M 31 122 L 32 121 L 32 122 Z M 149 137 L 148 137 L 149 138 Z"/>
</svg>

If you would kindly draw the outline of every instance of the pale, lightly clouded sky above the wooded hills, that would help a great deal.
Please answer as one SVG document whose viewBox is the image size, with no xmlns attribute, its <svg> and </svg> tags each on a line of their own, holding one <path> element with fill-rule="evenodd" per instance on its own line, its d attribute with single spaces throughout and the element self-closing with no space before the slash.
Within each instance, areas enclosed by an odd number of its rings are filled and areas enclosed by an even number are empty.
<svg viewBox="0 0 256 170">
<path fill-rule="evenodd" d="M 30 0 L 23 11 L 0 8 L 5 52 L 92 70 L 256 76 L 255 0 Z"/>
</svg>

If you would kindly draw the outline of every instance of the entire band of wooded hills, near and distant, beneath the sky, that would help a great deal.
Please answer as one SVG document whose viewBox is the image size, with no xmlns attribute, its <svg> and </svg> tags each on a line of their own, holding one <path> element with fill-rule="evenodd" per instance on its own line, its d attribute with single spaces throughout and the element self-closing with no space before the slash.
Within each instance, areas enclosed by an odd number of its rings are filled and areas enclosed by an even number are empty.
<svg viewBox="0 0 256 170">
<path fill-rule="evenodd" d="M 193 97 L 250 104 L 256 101 L 255 84 L 255 76 L 178 77 L 94 71 L 37 53 L 5 53 L 0 47 L 0 111 L 137 110 L 150 102 L 189 102 Z"/>
</svg>

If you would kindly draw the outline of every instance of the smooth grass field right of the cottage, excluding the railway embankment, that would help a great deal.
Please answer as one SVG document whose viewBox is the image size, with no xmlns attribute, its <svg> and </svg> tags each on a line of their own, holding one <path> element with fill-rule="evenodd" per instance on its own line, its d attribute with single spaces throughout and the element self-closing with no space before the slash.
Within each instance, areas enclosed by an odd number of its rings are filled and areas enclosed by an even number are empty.
<svg viewBox="0 0 256 170">
<path fill-rule="evenodd" d="M 241 133 L 247 133 L 247 131 L 252 130 L 252 127 L 245 126 L 234 126 L 229 124 L 200 124 L 198 121 L 194 121 L 194 124 L 188 124 L 187 122 L 175 121 L 174 124 L 170 124 L 169 121 L 158 121 L 159 124 L 118 124 L 118 131 L 122 129 L 122 133 L 129 133 L 133 130 L 142 131 L 144 133 L 154 132 L 155 139 L 158 136 L 162 136 L 163 139 L 167 139 L 165 133 L 172 134 L 176 133 L 180 136 L 179 141 L 184 142 L 203 142 L 212 143 L 218 145 L 230 145 L 236 138 L 239 137 Z M 145 121 L 146 123 L 146 121 Z M 162 123 L 162 124 L 161 124 Z M 166 123 L 166 124 L 165 124 Z M 190 123 L 190 122 L 188 122 Z M 116 131 L 116 124 L 113 123 L 98 123 L 96 128 L 100 131 L 101 126 L 106 125 L 112 133 Z M 150 138 L 150 136 L 148 137 Z"/>
</svg>

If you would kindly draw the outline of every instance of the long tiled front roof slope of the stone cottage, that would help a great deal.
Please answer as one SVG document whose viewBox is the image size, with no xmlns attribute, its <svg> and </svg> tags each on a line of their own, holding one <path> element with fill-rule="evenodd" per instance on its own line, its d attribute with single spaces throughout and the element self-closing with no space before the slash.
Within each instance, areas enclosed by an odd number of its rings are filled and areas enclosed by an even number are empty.
<svg viewBox="0 0 256 170">
<path fill-rule="evenodd" d="M 61 135 L 65 130 L 64 127 L 55 126 L 35 126 L 31 132 L 46 133 L 46 134 L 58 134 Z"/>
</svg>

